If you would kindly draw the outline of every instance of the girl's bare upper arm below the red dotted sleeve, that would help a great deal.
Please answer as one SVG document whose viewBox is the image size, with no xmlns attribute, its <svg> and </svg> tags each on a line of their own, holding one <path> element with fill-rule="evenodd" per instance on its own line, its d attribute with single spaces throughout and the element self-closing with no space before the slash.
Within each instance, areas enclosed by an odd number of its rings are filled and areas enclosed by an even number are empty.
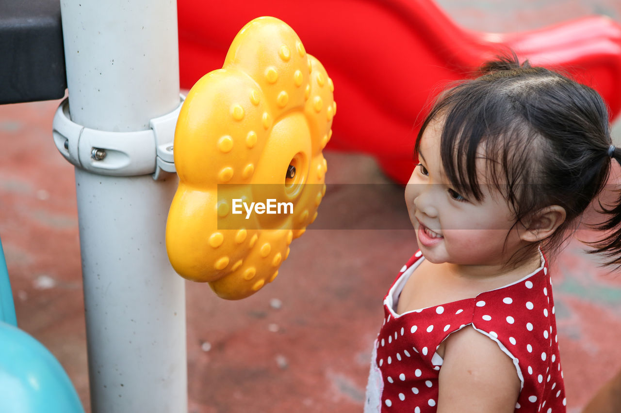
<svg viewBox="0 0 621 413">
<path fill-rule="evenodd" d="M 472 326 L 445 340 L 438 413 L 512 413 L 520 379 L 511 358 Z"/>
</svg>

